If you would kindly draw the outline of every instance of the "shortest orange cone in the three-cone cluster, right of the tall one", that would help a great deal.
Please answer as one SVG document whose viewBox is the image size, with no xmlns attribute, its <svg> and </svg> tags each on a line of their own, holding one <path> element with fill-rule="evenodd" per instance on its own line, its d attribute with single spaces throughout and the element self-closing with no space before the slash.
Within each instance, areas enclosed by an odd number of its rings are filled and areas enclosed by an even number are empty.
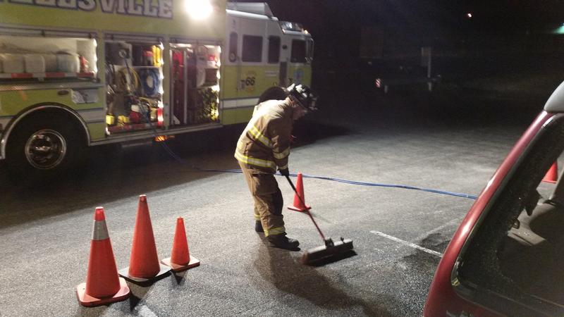
<svg viewBox="0 0 564 317">
<path fill-rule="evenodd" d="M 200 265 L 200 260 L 190 255 L 188 240 L 186 239 L 186 230 L 184 228 L 184 219 L 182 217 L 176 219 L 176 230 L 174 231 L 171 253 L 172 256 L 162 259 L 161 263 L 170 266 L 172 271 L 186 271 L 189 268 L 195 268 Z"/>
</svg>

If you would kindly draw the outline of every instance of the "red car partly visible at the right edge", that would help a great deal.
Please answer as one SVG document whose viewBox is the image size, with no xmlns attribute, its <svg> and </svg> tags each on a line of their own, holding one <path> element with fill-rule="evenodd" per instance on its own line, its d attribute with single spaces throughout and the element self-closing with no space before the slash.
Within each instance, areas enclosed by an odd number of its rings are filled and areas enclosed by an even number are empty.
<svg viewBox="0 0 564 317">
<path fill-rule="evenodd" d="M 462 220 L 424 316 L 564 316 L 563 149 L 564 83 Z"/>
</svg>

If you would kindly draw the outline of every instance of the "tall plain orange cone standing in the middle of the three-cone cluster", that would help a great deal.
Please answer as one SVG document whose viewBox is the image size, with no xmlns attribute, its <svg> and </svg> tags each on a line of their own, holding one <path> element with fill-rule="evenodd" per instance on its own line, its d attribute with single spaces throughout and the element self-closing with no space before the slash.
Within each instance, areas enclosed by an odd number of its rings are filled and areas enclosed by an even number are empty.
<svg viewBox="0 0 564 317">
<path fill-rule="evenodd" d="M 149 217 L 147 196 L 140 195 L 135 229 L 133 230 L 133 246 L 129 266 L 122 268 L 118 273 L 123 278 L 132 282 L 153 282 L 171 268 L 161 266 L 157 257 L 157 247 L 154 244 L 153 227 Z"/>
</svg>

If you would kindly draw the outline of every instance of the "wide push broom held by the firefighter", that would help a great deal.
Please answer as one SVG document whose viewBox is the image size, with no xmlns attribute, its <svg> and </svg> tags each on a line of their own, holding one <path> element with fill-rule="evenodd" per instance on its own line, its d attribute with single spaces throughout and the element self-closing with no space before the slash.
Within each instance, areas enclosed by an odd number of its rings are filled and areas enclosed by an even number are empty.
<svg viewBox="0 0 564 317">
<path fill-rule="evenodd" d="M 302 197 L 300 197 L 300 194 L 298 194 L 298 190 L 295 189 L 294 183 L 292 182 L 292 180 L 290 180 L 290 176 L 286 175 L 286 179 L 290 183 L 292 189 L 294 189 L 295 195 L 300 199 L 302 205 L 305 206 L 305 202 Z M 341 237 L 340 240 L 333 242 L 331 237 L 326 238 L 323 232 L 321 232 L 321 229 L 319 229 L 319 225 L 317 225 L 317 223 L 315 222 L 312 214 L 309 213 L 309 210 L 305 209 L 305 212 L 307 213 L 307 216 L 309 216 L 309 218 L 312 220 L 315 228 L 317 228 L 317 232 L 319 232 L 319 235 L 321 235 L 321 239 L 323 239 L 325 244 L 305 251 L 302 255 L 303 264 L 314 264 L 321 260 L 329 260 L 329 258 L 338 259 L 339 256 L 349 254 L 350 251 L 353 250 L 353 240 L 343 239 Z"/>
</svg>

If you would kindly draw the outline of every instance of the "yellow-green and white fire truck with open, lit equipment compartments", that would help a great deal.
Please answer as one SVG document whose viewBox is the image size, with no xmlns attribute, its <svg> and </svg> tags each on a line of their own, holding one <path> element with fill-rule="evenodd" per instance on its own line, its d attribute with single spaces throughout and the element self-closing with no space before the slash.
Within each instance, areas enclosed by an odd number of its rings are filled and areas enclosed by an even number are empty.
<svg viewBox="0 0 564 317">
<path fill-rule="evenodd" d="M 310 84 L 313 40 L 267 4 L 0 1 L 0 159 L 56 173 L 82 147 L 246 122 Z"/>
</svg>

